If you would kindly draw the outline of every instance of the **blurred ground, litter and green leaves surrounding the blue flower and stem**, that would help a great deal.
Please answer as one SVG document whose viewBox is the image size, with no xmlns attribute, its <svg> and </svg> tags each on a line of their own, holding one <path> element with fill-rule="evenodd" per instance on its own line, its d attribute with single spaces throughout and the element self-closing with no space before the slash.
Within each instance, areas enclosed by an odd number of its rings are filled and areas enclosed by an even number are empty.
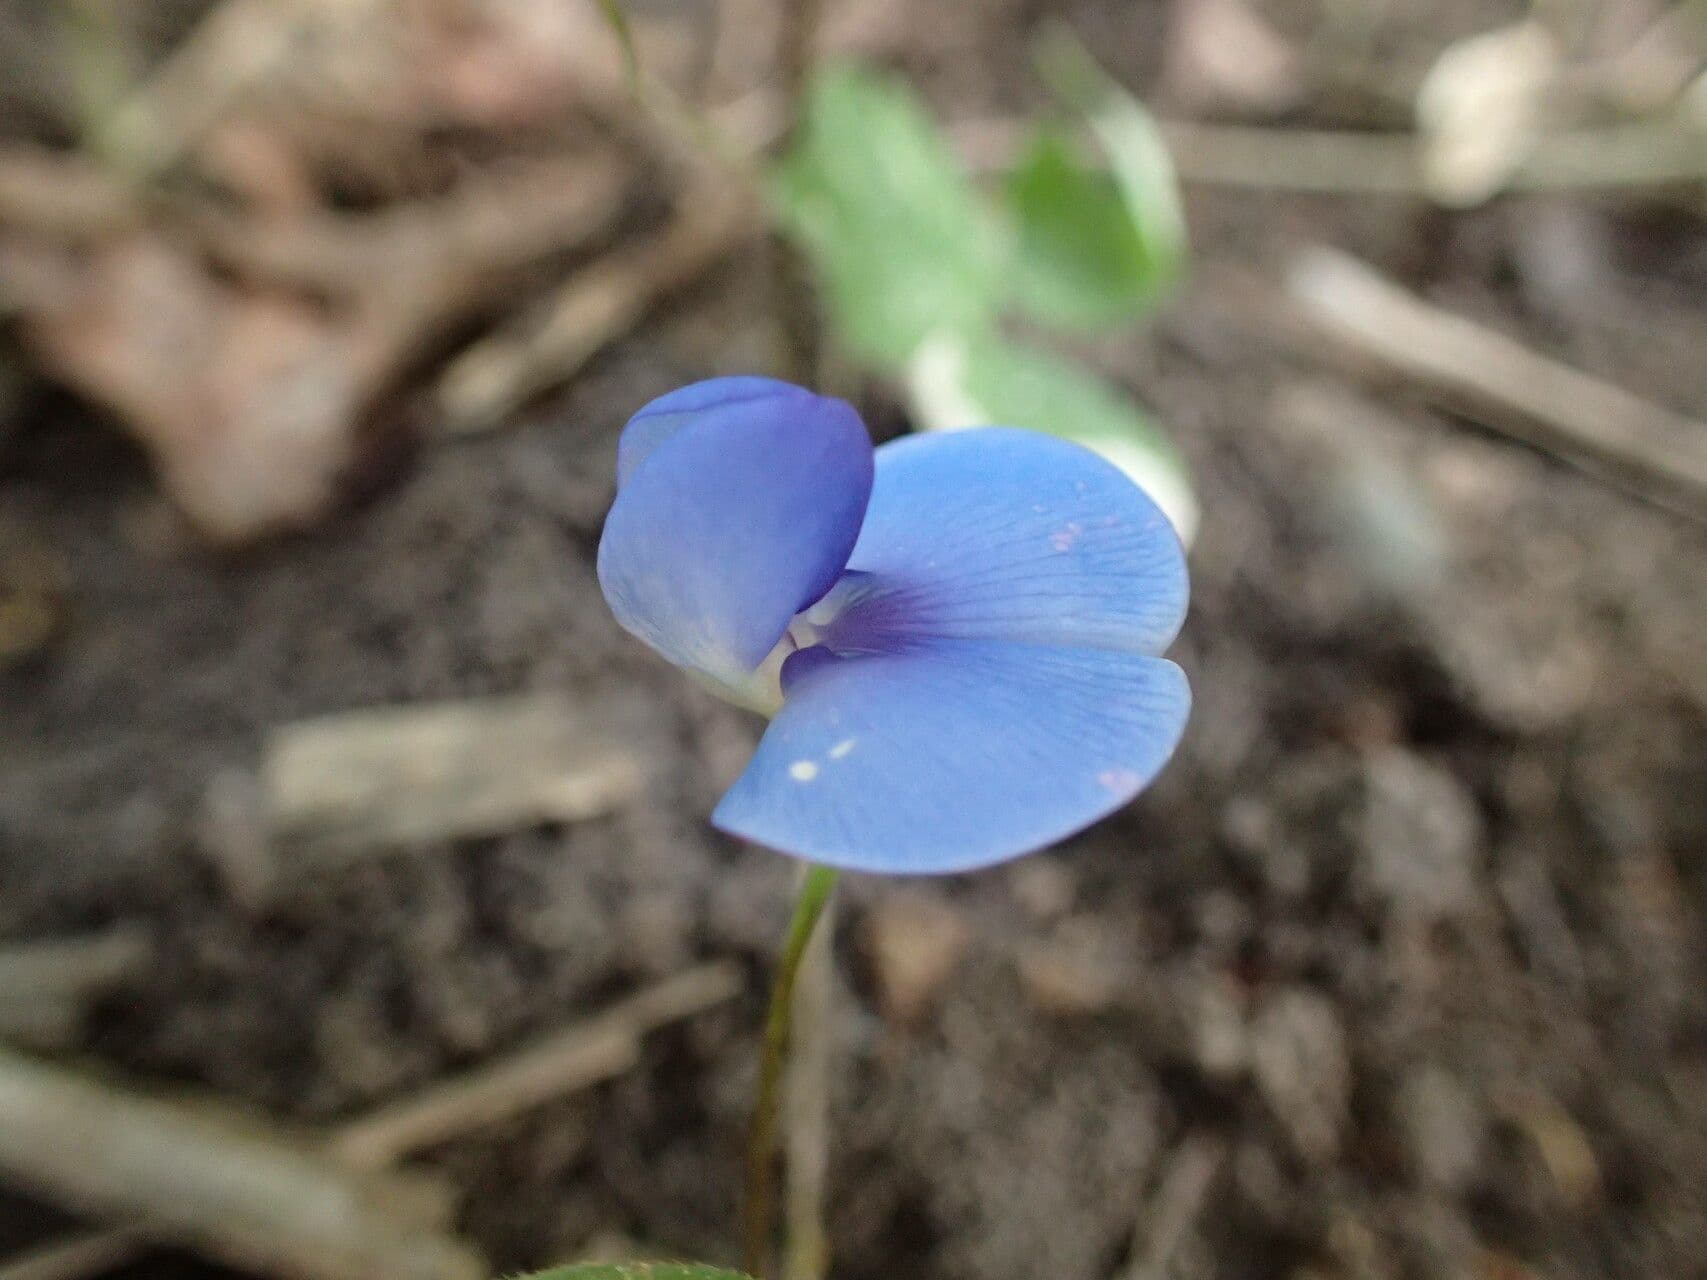
<svg viewBox="0 0 1707 1280">
<path fill-rule="evenodd" d="M 1707 1277 L 1704 179 L 1698 0 L 0 3 L 0 1280 L 734 1256 L 592 556 L 760 370 L 1195 531 L 1162 780 L 847 884 L 831 1275 Z"/>
</svg>

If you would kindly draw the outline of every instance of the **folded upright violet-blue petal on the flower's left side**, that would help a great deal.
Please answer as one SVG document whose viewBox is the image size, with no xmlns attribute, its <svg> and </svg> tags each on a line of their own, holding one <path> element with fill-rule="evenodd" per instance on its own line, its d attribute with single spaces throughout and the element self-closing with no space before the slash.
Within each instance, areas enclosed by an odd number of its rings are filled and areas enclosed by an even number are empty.
<svg viewBox="0 0 1707 1280">
<path fill-rule="evenodd" d="M 847 565 L 872 447 L 840 399 L 715 379 L 640 410 L 618 471 L 599 543 L 611 611 L 669 660 L 736 679 Z"/>
</svg>

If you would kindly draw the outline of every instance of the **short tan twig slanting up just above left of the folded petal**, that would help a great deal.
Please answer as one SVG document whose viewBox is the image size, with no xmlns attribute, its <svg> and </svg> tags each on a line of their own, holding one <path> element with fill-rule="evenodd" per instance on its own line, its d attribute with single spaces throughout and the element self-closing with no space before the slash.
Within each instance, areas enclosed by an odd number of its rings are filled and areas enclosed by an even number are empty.
<svg viewBox="0 0 1707 1280">
<path fill-rule="evenodd" d="M 447 435 L 471 435 L 572 379 L 674 290 L 688 287 L 756 225 L 725 191 L 690 191 L 657 234 L 613 249 L 558 288 L 538 314 L 504 326 L 439 379 Z"/>
</svg>

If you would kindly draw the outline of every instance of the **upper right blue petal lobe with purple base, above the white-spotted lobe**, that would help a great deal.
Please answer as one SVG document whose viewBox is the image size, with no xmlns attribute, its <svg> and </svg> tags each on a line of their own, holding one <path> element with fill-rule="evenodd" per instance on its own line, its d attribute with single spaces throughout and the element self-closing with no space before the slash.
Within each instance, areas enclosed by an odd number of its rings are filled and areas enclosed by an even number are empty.
<svg viewBox="0 0 1707 1280">
<path fill-rule="evenodd" d="M 879 449 L 848 568 L 823 633 L 838 650 L 941 637 L 1159 655 L 1188 596 L 1144 490 L 1089 449 L 1005 427 Z"/>
</svg>

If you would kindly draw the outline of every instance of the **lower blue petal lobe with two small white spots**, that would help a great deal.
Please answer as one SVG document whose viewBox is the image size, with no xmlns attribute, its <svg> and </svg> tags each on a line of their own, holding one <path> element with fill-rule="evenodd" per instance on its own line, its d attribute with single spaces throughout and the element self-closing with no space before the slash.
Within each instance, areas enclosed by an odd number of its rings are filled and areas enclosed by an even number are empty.
<svg viewBox="0 0 1707 1280">
<path fill-rule="evenodd" d="M 971 870 L 1053 843 L 1137 795 L 1191 693 L 1173 662 L 944 640 L 784 667 L 787 700 L 712 821 L 835 867 Z"/>
</svg>

